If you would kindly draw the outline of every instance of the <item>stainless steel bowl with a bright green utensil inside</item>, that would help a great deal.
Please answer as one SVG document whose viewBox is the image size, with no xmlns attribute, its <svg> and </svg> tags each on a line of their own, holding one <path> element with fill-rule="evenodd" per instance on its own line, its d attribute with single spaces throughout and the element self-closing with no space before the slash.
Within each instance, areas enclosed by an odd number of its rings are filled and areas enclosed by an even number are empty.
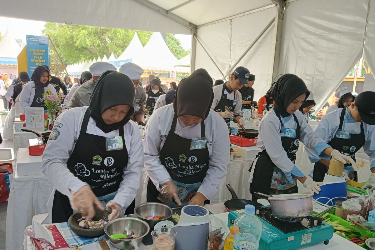
<svg viewBox="0 0 375 250">
<path fill-rule="evenodd" d="M 134 249 L 135 247 L 130 245 L 132 240 L 114 240 L 110 237 L 113 234 L 122 234 L 124 230 L 126 230 L 128 234 L 133 231 L 134 235 L 139 237 L 135 239 L 139 245 L 141 244 L 143 237 L 145 237 L 150 231 L 150 227 L 142 220 L 124 217 L 110 221 L 104 228 L 104 232 L 110 238 L 110 242 L 113 246 L 118 249 Z"/>
</svg>

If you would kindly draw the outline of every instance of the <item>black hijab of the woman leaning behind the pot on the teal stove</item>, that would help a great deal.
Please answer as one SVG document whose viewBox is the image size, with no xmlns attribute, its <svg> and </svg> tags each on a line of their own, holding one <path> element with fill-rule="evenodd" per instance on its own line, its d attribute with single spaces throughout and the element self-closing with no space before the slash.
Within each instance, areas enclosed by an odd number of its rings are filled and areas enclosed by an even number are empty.
<svg viewBox="0 0 375 250">
<path fill-rule="evenodd" d="M 305 98 L 310 94 L 305 82 L 293 74 L 285 74 L 281 76 L 271 92 L 271 96 L 275 101 L 273 108 L 283 117 L 290 115 L 287 112 L 287 108 L 291 102 L 304 93 L 306 93 Z"/>
</svg>

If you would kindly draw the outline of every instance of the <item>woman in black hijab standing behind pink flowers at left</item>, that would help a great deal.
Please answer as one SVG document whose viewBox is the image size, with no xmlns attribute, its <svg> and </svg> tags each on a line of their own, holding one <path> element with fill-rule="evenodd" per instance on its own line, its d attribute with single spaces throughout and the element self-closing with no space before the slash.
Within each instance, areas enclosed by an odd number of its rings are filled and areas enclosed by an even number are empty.
<svg viewBox="0 0 375 250">
<path fill-rule="evenodd" d="M 31 76 L 31 82 L 25 84 L 21 91 L 20 106 L 25 111 L 27 107 L 47 108 L 44 105 L 43 94 L 45 91 L 51 91 L 56 95 L 56 90 L 49 84 L 49 70 L 44 66 L 38 66 Z"/>
</svg>

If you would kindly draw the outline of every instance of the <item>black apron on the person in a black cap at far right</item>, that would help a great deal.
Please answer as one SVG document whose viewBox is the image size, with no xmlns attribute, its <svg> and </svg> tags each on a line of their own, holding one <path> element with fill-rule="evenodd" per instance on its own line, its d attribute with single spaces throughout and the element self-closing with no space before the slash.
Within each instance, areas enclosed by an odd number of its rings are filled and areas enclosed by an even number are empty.
<svg viewBox="0 0 375 250">
<path fill-rule="evenodd" d="M 339 130 L 342 129 L 342 124 L 344 123 L 345 112 L 347 108 L 343 108 L 340 116 L 340 126 Z M 328 143 L 333 149 L 340 151 L 340 153 L 350 156 L 354 162 L 356 161 L 356 153 L 360 148 L 366 143 L 365 130 L 363 130 L 363 123 L 361 123 L 361 133 L 350 134 L 350 139 L 337 138 L 336 136 Z M 344 171 L 348 174 L 351 180 L 357 181 L 357 172 L 353 170 L 351 164 L 344 164 Z M 320 162 L 316 162 L 314 165 L 314 181 L 323 181 L 328 168 L 326 165 Z"/>
</svg>

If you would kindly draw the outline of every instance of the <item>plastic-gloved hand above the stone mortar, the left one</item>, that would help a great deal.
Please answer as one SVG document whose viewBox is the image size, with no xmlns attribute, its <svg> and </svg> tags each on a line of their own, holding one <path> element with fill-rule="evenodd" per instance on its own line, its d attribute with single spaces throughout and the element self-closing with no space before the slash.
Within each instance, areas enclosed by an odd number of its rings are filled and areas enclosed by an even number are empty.
<svg viewBox="0 0 375 250">
<path fill-rule="evenodd" d="M 94 204 L 104 210 L 103 205 L 89 186 L 83 186 L 77 192 L 71 191 L 70 202 L 73 210 L 77 210 L 82 216 L 87 216 L 89 219 L 95 216 Z"/>
</svg>

